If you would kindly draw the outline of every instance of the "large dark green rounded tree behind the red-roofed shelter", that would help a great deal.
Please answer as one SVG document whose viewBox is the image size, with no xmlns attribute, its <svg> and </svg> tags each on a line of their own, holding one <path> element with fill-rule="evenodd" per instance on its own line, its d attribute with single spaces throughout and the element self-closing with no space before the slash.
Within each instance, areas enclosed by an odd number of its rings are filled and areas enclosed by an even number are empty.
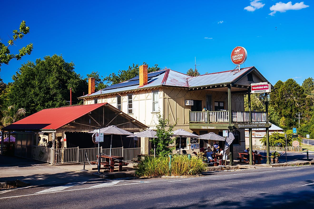
<svg viewBox="0 0 314 209">
<path fill-rule="evenodd" d="M 61 55 L 45 56 L 35 63 L 28 61 L 12 79 L 7 103 L 26 109 L 26 115 L 68 105 L 70 88 L 72 104 L 76 104 L 79 102 L 77 97 L 88 89 L 87 82 L 74 71 L 74 63 L 66 62 Z"/>
</svg>

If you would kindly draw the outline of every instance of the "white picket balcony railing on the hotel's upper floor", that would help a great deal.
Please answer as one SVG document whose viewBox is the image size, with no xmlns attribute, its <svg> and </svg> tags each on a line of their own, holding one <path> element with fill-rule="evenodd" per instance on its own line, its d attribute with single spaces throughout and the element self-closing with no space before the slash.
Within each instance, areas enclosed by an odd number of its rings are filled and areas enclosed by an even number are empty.
<svg viewBox="0 0 314 209">
<path fill-rule="evenodd" d="M 232 111 L 232 123 L 249 123 L 250 112 Z M 266 123 L 266 112 L 252 112 L 252 122 Z M 229 123 L 229 111 L 190 112 L 190 123 Z"/>
</svg>

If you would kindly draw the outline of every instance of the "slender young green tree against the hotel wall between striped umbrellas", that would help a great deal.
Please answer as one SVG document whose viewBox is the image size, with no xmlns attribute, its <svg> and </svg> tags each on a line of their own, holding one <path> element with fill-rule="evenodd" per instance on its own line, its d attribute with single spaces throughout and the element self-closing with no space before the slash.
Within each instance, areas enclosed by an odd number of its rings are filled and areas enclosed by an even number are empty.
<svg viewBox="0 0 314 209">
<path fill-rule="evenodd" d="M 158 138 L 151 139 L 152 144 L 156 144 L 156 155 L 168 156 L 172 153 L 175 147 L 169 147 L 173 144 L 176 138 L 172 138 L 173 128 L 176 124 L 167 125 L 169 118 L 165 119 L 162 115 L 158 114 L 158 124 L 156 125 L 156 136 Z"/>
</svg>

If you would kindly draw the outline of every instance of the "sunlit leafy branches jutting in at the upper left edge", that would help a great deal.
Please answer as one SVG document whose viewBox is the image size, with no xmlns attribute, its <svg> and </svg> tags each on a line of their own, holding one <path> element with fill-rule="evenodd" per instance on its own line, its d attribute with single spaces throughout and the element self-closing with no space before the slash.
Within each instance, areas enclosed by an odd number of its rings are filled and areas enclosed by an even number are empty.
<svg viewBox="0 0 314 209">
<path fill-rule="evenodd" d="M 22 58 L 22 56 L 28 54 L 30 55 L 30 53 L 33 50 L 33 44 L 28 44 L 26 45 L 26 47 L 23 47 L 19 50 L 19 54 L 10 54 L 10 50 L 9 50 L 9 46 L 13 46 L 15 45 L 15 41 L 17 39 L 23 39 L 25 34 L 28 34 L 30 32 L 30 27 L 26 26 L 26 22 L 23 20 L 20 24 L 19 27 L 19 31 L 18 30 L 14 30 L 13 31 L 13 36 L 12 38 L 10 38 L 10 40 L 8 40 L 8 45 L 6 46 L 5 44 L 3 44 L 1 42 L 1 38 L 0 38 L 0 71 L 1 71 L 1 65 L 4 63 L 6 65 L 9 64 L 10 60 L 12 59 L 16 59 L 16 60 L 20 60 Z M 0 81 L 2 81 L 2 79 L 0 78 Z"/>
</svg>

